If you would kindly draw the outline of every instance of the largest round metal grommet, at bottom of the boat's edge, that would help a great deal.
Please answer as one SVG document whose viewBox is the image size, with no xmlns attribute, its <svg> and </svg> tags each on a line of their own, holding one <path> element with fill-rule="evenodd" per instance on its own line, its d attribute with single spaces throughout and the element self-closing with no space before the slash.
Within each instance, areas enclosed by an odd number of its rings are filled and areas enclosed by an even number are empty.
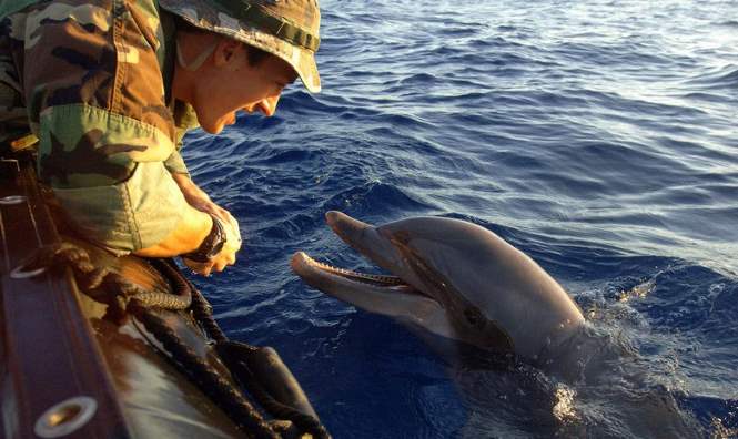
<svg viewBox="0 0 738 439">
<path fill-rule="evenodd" d="M 65 399 L 36 421 L 33 432 L 40 438 L 60 438 L 84 427 L 98 410 L 98 402 L 90 397 Z"/>
</svg>

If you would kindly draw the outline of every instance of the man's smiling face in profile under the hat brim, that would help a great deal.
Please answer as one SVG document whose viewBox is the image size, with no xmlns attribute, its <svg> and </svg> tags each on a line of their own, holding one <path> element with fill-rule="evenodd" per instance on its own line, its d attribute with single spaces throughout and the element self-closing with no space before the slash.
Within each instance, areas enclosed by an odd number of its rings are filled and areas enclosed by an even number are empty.
<svg viewBox="0 0 738 439">
<path fill-rule="evenodd" d="M 240 110 L 274 114 L 282 90 L 297 78 L 290 64 L 273 55 L 251 65 L 241 43 L 226 40 L 213 57 L 196 80 L 191 102 L 200 125 L 211 134 L 235 123 Z"/>
</svg>

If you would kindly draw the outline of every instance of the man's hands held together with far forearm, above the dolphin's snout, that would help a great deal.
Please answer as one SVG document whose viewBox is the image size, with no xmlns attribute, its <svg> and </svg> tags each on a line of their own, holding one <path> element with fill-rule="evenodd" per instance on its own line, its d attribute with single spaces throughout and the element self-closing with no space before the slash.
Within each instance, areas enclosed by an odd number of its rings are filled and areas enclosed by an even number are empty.
<svg viewBox="0 0 738 439">
<path fill-rule="evenodd" d="M 225 245 L 223 245 L 218 255 L 206 263 L 198 263 L 183 257 L 184 264 L 193 272 L 203 276 L 210 276 L 213 270 L 220 273 L 225 266 L 233 265 L 235 263 L 235 254 L 241 248 L 239 222 L 229 211 L 213 203 L 210 196 L 190 180 L 189 176 L 185 174 L 172 174 L 172 177 L 180 186 L 184 200 L 192 207 L 218 217 L 225 229 Z"/>
</svg>

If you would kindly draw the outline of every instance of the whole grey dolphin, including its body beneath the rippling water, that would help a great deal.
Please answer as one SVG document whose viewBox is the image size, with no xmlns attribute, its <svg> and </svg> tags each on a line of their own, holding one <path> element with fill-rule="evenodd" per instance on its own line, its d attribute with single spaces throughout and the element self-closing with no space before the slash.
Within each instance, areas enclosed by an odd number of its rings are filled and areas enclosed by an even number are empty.
<svg viewBox="0 0 738 439">
<path fill-rule="evenodd" d="M 341 212 L 328 212 L 325 217 L 344 242 L 392 276 L 332 267 L 303 252 L 293 255 L 292 269 L 309 285 L 340 300 L 421 329 L 418 334 L 443 354 L 453 349 L 456 357 L 452 363 L 461 359 L 464 366 L 454 377 L 463 392 L 473 396 L 474 412 L 483 414 L 479 431 L 487 431 L 488 419 L 504 421 L 499 416 L 505 410 L 496 398 L 486 398 L 484 387 L 494 382 L 496 391 L 504 389 L 498 385 L 499 376 L 479 380 L 478 374 L 528 370 L 507 367 L 510 359 L 517 363 L 519 358 L 557 378 L 550 381 L 556 387 L 550 397 L 555 402 L 552 414 L 563 422 L 559 427 L 573 431 L 570 436 L 704 436 L 695 418 L 679 408 L 665 386 L 650 384 L 647 369 L 634 354 L 587 323 L 554 278 L 491 231 L 442 217 L 413 217 L 378 227 Z M 441 337 L 425 337 L 428 334 Z M 487 351 L 493 355 L 478 358 Z M 474 360 L 472 368 L 469 359 Z M 565 386 L 559 388 L 555 382 Z M 567 382 L 587 385 L 572 390 Z M 569 392 L 560 394 L 562 389 Z M 572 406 L 574 395 L 582 401 L 576 406 Z M 527 409 L 535 411 L 542 398 L 534 398 L 534 407 Z M 557 415 L 563 410 L 557 406 L 568 409 Z M 588 407 L 596 408 L 596 416 L 601 416 L 599 408 L 610 407 L 611 425 L 592 426 L 582 420 L 587 418 L 579 418 L 579 409 L 589 412 Z M 469 426 L 472 437 L 479 437 L 477 427 Z"/>
</svg>

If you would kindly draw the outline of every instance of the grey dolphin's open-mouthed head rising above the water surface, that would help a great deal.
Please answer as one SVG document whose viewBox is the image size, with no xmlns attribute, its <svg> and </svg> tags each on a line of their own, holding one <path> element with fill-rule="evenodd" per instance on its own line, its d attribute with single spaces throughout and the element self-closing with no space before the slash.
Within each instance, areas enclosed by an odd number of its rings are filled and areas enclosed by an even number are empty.
<svg viewBox="0 0 738 439">
<path fill-rule="evenodd" d="M 328 212 L 326 221 L 394 276 L 330 267 L 301 252 L 292 268 L 311 286 L 357 307 L 525 357 L 535 357 L 584 321 L 546 272 L 484 227 L 439 217 L 374 227 L 340 212 Z"/>
</svg>

